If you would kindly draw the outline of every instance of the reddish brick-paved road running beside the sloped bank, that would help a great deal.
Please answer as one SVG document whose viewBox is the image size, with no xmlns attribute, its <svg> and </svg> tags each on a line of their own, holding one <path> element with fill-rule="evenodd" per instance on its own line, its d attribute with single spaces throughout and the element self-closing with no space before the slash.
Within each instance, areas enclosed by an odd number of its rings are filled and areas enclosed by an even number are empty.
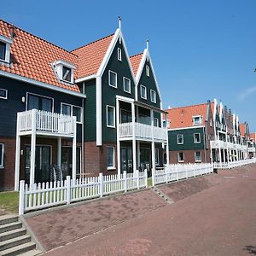
<svg viewBox="0 0 256 256">
<path fill-rule="evenodd" d="M 160 189 L 175 202 L 110 224 L 47 255 L 256 254 L 256 165 Z"/>
</svg>

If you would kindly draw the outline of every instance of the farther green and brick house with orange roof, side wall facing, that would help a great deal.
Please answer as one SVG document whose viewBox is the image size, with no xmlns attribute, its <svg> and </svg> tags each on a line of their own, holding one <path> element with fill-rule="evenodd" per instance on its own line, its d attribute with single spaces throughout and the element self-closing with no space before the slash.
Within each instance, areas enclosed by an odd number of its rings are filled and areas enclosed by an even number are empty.
<svg viewBox="0 0 256 256">
<path fill-rule="evenodd" d="M 211 102 L 166 111 L 170 163 L 211 162 L 210 141 L 214 137 Z"/>
</svg>

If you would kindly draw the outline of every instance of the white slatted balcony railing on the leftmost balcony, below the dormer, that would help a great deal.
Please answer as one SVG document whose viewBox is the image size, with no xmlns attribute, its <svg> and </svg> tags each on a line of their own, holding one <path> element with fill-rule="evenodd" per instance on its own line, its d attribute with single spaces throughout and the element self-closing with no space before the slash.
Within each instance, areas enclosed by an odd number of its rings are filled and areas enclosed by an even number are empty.
<svg viewBox="0 0 256 256">
<path fill-rule="evenodd" d="M 41 131 L 45 133 L 73 135 L 76 129 L 75 117 L 32 109 L 18 113 L 18 131 Z"/>
</svg>

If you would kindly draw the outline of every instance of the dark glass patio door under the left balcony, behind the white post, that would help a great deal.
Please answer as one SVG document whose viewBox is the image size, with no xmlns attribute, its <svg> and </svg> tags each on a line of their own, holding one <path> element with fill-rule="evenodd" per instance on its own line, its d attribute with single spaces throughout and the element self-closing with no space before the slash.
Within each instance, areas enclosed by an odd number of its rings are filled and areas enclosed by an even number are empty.
<svg viewBox="0 0 256 256">
<path fill-rule="evenodd" d="M 25 181 L 30 181 L 30 146 L 25 147 Z M 36 146 L 35 183 L 49 182 L 49 166 L 51 165 L 51 147 Z"/>
</svg>

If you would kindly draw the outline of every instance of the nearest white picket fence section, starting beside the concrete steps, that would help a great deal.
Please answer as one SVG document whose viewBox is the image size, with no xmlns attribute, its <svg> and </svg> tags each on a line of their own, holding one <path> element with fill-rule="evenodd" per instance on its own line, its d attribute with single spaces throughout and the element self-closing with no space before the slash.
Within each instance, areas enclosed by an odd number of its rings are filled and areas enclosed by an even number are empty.
<svg viewBox="0 0 256 256">
<path fill-rule="evenodd" d="M 77 180 L 71 180 L 67 176 L 65 181 L 35 183 L 32 186 L 21 180 L 19 214 L 147 187 L 147 170 L 108 176 L 100 173 L 98 177 L 84 177 Z"/>
</svg>

